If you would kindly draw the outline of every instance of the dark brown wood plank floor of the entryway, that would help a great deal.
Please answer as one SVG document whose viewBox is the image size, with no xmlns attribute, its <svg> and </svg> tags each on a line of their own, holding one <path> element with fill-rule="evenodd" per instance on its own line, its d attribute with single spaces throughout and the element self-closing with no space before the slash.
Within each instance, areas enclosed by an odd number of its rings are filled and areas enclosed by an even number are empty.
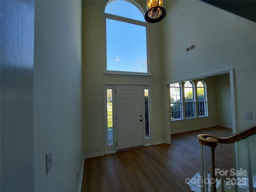
<svg viewBox="0 0 256 192">
<path fill-rule="evenodd" d="M 232 130 L 212 127 L 172 134 L 171 144 L 135 148 L 86 158 L 81 192 L 190 192 L 185 183 L 200 170 L 198 134 L 230 136 Z M 232 168 L 232 144 L 222 146 L 224 168 Z M 216 148 L 216 168 L 219 147 Z"/>
</svg>

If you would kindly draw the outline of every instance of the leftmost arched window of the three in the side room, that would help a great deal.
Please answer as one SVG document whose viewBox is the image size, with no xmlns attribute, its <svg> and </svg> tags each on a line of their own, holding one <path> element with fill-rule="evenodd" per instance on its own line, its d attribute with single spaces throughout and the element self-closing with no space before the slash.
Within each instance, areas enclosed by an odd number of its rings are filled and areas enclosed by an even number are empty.
<svg viewBox="0 0 256 192">
<path fill-rule="evenodd" d="M 180 89 L 180 83 L 170 84 L 171 119 L 180 119 L 182 117 Z"/>
</svg>

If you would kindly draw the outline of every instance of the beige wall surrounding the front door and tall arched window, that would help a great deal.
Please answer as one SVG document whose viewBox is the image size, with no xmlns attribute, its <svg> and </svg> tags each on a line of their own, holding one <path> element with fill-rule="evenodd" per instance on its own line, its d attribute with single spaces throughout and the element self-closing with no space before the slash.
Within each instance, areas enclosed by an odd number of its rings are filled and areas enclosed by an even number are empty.
<svg viewBox="0 0 256 192">
<path fill-rule="evenodd" d="M 150 77 L 118 77 L 104 75 L 104 7 L 107 1 L 83 1 L 83 154 L 104 152 L 104 83 L 151 84 L 153 110 L 153 142 L 166 139 L 163 108 L 162 62 L 159 36 L 160 24 L 150 26 L 152 76 Z M 137 1 L 146 8 L 145 1 Z M 92 9 L 88 8 L 92 7 Z M 93 16 L 92 16 L 93 15 Z"/>
</svg>

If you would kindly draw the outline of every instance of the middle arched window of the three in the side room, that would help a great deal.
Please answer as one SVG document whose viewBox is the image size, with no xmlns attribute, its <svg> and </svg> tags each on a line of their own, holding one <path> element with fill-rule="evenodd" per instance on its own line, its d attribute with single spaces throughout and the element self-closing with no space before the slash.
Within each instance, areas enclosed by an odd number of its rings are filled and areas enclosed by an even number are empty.
<svg viewBox="0 0 256 192">
<path fill-rule="evenodd" d="M 184 84 L 184 97 L 186 118 L 194 117 L 194 90 L 193 85 L 190 81 L 186 81 Z"/>
</svg>

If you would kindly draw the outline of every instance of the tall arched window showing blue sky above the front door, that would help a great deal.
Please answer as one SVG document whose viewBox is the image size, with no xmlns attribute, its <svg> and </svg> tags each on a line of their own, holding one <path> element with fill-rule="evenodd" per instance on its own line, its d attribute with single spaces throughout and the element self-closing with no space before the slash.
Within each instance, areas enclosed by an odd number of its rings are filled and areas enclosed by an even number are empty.
<svg viewBox="0 0 256 192">
<path fill-rule="evenodd" d="M 104 10 L 108 74 L 150 75 L 147 23 L 134 1 L 110 0 Z"/>
</svg>

